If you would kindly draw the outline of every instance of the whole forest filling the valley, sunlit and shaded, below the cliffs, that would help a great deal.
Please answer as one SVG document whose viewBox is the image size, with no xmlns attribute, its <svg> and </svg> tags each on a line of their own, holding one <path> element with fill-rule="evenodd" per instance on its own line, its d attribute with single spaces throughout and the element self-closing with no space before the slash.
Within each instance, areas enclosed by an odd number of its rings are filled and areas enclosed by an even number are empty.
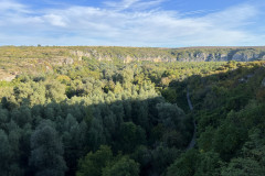
<svg viewBox="0 0 265 176">
<path fill-rule="evenodd" d="M 1 64 L 1 176 L 265 173 L 263 61 Z"/>
</svg>

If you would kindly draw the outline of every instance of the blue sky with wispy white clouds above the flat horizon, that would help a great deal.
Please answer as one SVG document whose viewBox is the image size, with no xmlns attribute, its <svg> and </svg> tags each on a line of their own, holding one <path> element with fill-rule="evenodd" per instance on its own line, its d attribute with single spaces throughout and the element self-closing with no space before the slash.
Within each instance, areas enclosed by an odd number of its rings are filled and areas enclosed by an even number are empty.
<svg viewBox="0 0 265 176">
<path fill-rule="evenodd" d="M 0 0 L 0 46 L 261 46 L 264 0 Z"/>
</svg>

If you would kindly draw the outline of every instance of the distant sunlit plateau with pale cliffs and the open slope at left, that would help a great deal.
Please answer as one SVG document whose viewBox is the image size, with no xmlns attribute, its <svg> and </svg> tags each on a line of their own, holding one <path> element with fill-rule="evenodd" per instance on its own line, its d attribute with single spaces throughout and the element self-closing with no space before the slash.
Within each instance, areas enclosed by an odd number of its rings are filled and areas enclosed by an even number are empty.
<svg viewBox="0 0 265 176">
<path fill-rule="evenodd" d="M 97 59 L 108 62 L 251 62 L 265 59 L 265 46 L 183 48 L 118 46 L 1 46 L 0 79 L 21 72 L 46 72 L 54 66 Z"/>
</svg>

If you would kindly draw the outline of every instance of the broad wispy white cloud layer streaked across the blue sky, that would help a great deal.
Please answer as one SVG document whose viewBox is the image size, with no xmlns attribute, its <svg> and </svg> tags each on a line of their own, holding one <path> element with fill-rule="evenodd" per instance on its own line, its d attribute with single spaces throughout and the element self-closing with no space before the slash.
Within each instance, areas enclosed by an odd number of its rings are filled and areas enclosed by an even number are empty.
<svg viewBox="0 0 265 176">
<path fill-rule="evenodd" d="M 34 12 L 23 4 L 0 0 L 18 13 L 0 11 L 0 44 L 43 45 L 128 45 L 193 46 L 262 44 L 263 36 L 244 30 L 258 10 L 242 4 L 223 11 L 191 18 L 178 11 L 139 10 L 137 7 L 158 4 L 162 0 L 108 1 L 112 8 L 70 7 Z M 7 8 L 8 7 L 8 8 Z M 10 8 L 13 7 L 13 8 Z M 118 10 L 117 10 L 118 9 Z M 125 9 L 135 9 L 126 11 Z M 17 40 L 7 40 L 8 36 Z M 26 43 L 25 43 L 26 41 Z"/>
</svg>

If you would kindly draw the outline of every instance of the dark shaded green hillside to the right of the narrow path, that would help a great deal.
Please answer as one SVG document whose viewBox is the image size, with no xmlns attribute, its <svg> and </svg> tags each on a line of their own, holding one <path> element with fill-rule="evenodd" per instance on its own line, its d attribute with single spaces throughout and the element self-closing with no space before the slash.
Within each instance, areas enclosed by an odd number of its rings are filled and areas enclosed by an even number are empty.
<svg viewBox="0 0 265 176">
<path fill-rule="evenodd" d="M 265 65 L 235 65 L 184 80 L 194 107 L 197 146 L 176 160 L 167 176 L 264 175 Z M 171 91 L 179 91 L 179 84 L 171 82 Z"/>
</svg>

